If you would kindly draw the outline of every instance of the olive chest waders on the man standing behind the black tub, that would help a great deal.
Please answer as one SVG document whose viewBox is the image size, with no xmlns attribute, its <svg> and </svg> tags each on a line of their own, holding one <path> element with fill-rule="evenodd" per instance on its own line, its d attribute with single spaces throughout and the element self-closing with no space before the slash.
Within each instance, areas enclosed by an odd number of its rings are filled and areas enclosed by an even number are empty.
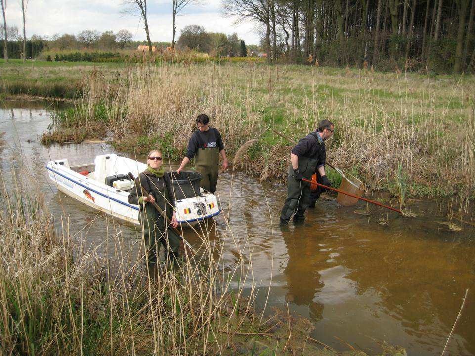
<svg viewBox="0 0 475 356">
<path fill-rule="evenodd" d="M 200 187 L 214 194 L 219 173 L 219 148 L 204 146 L 205 144 L 196 152 L 195 167 L 196 171 L 201 173 Z"/>
</svg>

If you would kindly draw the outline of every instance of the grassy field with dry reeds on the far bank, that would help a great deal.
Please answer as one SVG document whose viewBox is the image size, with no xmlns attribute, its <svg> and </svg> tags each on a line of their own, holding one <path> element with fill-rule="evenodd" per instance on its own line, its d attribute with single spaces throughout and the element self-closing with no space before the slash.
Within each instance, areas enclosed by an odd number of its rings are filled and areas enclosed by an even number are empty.
<svg viewBox="0 0 475 356">
<path fill-rule="evenodd" d="M 330 119 L 335 135 L 328 161 L 356 173 L 368 188 L 389 189 L 402 201 L 412 194 L 474 197 L 473 76 L 250 63 L 54 62 L 1 64 L 0 75 L 2 95 L 25 86 L 35 88 L 29 95 L 51 96 L 52 87 L 69 88 L 70 97 L 79 93 L 74 108 L 57 115 L 45 142 L 60 141 L 62 132 L 71 137 L 75 129 L 86 136 L 109 129 L 119 149 L 145 152 L 158 145 L 178 159 L 194 117 L 203 112 L 231 156 L 259 139 L 238 159 L 248 172 L 285 178 L 290 144 L 266 127 L 298 140 Z"/>
</svg>

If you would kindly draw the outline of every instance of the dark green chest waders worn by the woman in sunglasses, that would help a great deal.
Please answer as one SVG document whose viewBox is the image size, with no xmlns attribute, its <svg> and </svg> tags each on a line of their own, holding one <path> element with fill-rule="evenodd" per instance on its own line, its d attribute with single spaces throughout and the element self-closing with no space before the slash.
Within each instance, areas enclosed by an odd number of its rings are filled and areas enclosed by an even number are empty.
<svg viewBox="0 0 475 356">
<path fill-rule="evenodd" d="M 142 173 L 143 174 L 143 173 Z M 157 205 L 169 218 L 171 208 L 168 199 L 168 188 L 163 178 L 146 176 L 143 188 L 154 198 Z M 172 213 L 173 214 L 173 213 Z M 171 228 L 167 228 L 166 218 L 151 204 L 145 203 L 138 214 L 138 220 L 143 229 L 143 239 L 145 243 L 145 256 L 147 259 L 147 272 L 152 279 L 155 279 L 156 264 L 160 252 L 160 244 L 165 250 L 165 259 L 170 256 L 170 260 L 178 258 L 180 248 L 180 238 Z"/>
</svg>

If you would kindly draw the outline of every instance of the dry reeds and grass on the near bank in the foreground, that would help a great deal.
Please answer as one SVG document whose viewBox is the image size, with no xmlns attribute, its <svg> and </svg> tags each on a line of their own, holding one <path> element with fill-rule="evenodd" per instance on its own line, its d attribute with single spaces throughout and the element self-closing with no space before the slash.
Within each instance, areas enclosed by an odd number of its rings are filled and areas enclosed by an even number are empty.
<svg viewBox="0 0 475 356">
<path fill-rule="evenodd" d="M 1 186 L 1 355 L 230 354 L 269 329 L 254 312 L 249 267 L 220 267 L 225 237 L 213 244 L 200 231 L 194 258 L 163 267 L 152 284 L 117 225 L 86 247 L 85 233 L 55 220 L 31 183 L 2 176 Z M 275 347 L 276 336 L 260 338 Z"/>
</svg>

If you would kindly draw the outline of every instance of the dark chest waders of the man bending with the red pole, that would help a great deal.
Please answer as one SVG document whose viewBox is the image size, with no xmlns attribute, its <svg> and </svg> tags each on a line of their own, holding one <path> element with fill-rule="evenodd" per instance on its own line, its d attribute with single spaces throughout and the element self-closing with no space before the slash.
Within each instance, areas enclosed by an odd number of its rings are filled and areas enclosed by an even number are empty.
<svg viewBox="0 0 475 356">
<path fill-rule="evenodd" d="M 317 167 L 317 158 L 299 157 L 299 171 L 303 178 L 312 179 L 312 174 L 315 173 Z M 294 221 L 305 220 L 305 210 L 310 205 L 310 183 L 297 181 L 293 178 L 294 169 L 292 164 L 289 164 L 289 171 L 287 175 L 287 198 L 285 199 L 284 207 L 280 213 L 280 221 L 283 224 L 288 224 L 289 220 L 294 217 Z"/>
</svg>

